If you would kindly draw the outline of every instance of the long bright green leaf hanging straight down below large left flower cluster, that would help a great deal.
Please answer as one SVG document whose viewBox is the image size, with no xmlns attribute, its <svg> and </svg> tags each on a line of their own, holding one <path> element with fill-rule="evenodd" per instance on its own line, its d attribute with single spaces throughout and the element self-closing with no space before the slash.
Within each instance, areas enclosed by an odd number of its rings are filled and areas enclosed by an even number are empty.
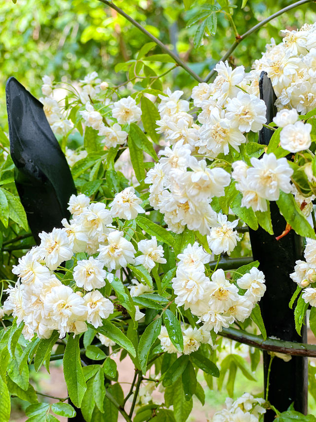
<svg viewBox="0 0 316 422">
<path fill-rule="evenodd" d="M 69 397 L 76 407 L 80 407 L 87 387 L 80 361 L 79 335 L 68 337 L 63 367 Z"/>
</svg>

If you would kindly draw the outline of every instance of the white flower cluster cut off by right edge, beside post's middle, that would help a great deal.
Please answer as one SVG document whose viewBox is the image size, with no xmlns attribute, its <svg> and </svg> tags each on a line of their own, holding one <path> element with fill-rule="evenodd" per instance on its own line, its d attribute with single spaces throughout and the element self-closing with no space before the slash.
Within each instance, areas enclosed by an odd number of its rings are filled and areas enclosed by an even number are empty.
<svg viewBox="0 0 316 422">
<path fill-rule="evenodd" d="M 304 289 L 302 297 L 306 303 L 316 306 L 316 288 L 309 287 L 316 281 L 316 240 L 307 239 L 304 251 L 305 261 L 298 260 L 290 278 Z"/>
</svg>

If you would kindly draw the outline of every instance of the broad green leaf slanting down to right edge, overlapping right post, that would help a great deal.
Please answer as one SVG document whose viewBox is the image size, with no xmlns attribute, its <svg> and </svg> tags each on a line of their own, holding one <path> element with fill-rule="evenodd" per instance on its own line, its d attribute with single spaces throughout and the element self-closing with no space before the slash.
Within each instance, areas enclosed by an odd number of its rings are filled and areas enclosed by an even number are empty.
<svg viewBox="0 0 316 422">
<path fill-rule="evenodd" d="M 314 229 L 299 209 L 292 193 L 284 193 L 280 190 L 280 196 L 276 203 L 286 222 L 297 234 L 316 239 Z"/>
</svg>

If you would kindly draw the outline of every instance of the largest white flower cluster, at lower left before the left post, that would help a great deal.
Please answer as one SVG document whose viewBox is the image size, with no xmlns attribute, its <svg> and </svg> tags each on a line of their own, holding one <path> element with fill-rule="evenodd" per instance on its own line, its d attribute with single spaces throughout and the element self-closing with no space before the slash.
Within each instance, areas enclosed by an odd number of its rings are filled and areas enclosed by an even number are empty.
<svg viewBox="0 0 316 422">
<path fill-rule="evenodd" d="M 128 201 L 120 203 L 119 198 Z M 156 262 L 166 262 L 156 237 L 140 240 L 140 254 L 135 259 L 132 243 L 112 225 L 115 216 L 130 219 L 143 212 L 139 202 L 133 188 L 118 193 L 110 210 L 104 203 L 90 203 L 83 194 L 71 196 L 69 210 L 73 220 L 64 219 L 63 229 L 40 233 L 40 245 L 20 258 L 12 270 L 18 281 L 7 289 L 3 311 L 17 317 L 18 325 L 24 321 L 25 338 L 32 339 L 35 333 L 49 338 L 54 329 L 60 338 L 67 332 L 78 334 L 87 329 L 86 322 L 94 328 L 102 326 L 102 319 L 114 311 L 112 302 L 98 290 L 105 286 L 105 279 L 113 280 L 108 272 L 129 263 L 143 264 L 151 271 Z M 73 270 L 67 270 L 72 275 L 65 285 L 62 275 L 54 271 L 79 252 L 99 254 L 75 261 Z M 138 308 L 136 311 L 137 319 L 144 316 Z"/>
</svg>

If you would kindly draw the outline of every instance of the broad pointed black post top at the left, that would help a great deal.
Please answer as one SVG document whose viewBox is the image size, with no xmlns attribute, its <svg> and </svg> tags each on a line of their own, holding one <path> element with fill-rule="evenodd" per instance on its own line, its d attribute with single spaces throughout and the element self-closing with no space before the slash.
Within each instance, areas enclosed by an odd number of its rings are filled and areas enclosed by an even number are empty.
<svg viewBox="0 0 316 422">
<path fill-rule="evenodd" d="M 41 102 L 13 77 L 5 94 L 15 185 L 39 242 L 40 232 L 61 227 L 61 220 L 69 218 L 68 201 L 76 188 Z"/>
</svg>

